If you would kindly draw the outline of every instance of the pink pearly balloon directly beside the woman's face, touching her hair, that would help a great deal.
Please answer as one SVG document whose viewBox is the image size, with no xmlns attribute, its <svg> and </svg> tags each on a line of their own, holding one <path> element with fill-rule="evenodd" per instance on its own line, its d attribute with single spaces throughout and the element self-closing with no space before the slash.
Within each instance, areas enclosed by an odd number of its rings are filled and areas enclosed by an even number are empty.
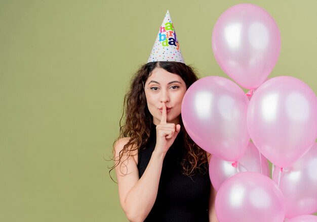
<svg viewBox="0 0 317 222">
<path fill-rule="evenodd" d="M 249 100 L 231 80 L 204 77 L 192 84 L 182 102 L 182 120 L 191 139 L 225 160 L 239 159 L 247 148 Z"/>
</svg>

